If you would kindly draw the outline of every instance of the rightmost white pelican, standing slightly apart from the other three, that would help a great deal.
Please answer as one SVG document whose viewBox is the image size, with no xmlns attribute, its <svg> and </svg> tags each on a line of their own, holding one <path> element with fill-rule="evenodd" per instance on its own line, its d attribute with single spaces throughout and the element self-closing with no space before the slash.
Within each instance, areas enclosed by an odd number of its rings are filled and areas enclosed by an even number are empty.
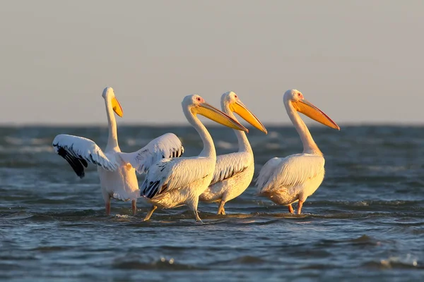
<svg viewBox="0 0 424 282">
<path fill-rule="evenodd" d="M 329 116 L 307 102 L 298 90 L 286 91 L 283 102 L 302 140 L 303 153 L 267 161 L 257 178 L 257 188 L 259 195 L 269 197 L 276 204 L 288 206 L 290 213 L 294 212 L 291 204 L 299 201 L 300 214 L 303 202 L 318 189 L 324 179 L 324 157 L 297 112 L 330 128 L 340 128 Z"/>
</svg>

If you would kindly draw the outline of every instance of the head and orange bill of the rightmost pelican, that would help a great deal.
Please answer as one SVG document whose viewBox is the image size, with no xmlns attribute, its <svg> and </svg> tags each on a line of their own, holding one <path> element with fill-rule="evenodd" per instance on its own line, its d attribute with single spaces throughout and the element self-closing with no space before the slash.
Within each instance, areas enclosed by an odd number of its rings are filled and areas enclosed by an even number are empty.
<svg viewBox="0 0 424 282">
<path fill-rule="evenodd" d="M 312 118 L 314 121 L 318 121 L 330 128 L 340 130 L 340 127 L 331 118 L 329 118 L 329 116 L 324 114 L 323 111 L 318 109 L 312 103 L 308 102 L 300 91 L 295 89 L 287 90 L 284 93 L 283 101 L 285 105 L 291 102 L 296 111 Z"/>
</svg>

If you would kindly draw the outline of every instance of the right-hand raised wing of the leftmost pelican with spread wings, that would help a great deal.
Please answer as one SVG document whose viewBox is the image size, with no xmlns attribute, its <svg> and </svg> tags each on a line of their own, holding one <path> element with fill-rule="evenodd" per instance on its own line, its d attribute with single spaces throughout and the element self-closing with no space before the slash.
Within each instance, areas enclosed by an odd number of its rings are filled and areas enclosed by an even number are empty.
<svg viewBox="0 0 424 282">
<path fill-rule="evenodd" d="M 119 156 L 126 164 L 136 168 L 138 173 L 143 173 L 160 159 L 180 157 L 182 153 L 184 147 L 179 138 L 173 133 L 166 133 L 151 140 L 139 151 L 119 153 Z"/>
</svg>

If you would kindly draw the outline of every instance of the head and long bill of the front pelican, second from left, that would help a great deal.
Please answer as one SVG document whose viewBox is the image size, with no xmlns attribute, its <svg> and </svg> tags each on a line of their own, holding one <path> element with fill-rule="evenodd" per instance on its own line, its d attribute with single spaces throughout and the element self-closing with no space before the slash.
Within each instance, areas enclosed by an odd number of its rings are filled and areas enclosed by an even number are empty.
<svg viewBox="0 0 424 282">
<path fill-rule="evenodd" d="M 184 97 L 181 104 L 184 114 L 189 111 L 194 116 L 199 114 L 215 121 L 216 123 L 228 126 L 229 128 L 249 132 L 249 130 L 247 130 L 247 128 L 241 125 L 238 121 L 235 121 L 233 118 L 216 109 L 216 107 L 211 104 L 206 103 L 206 101 L 199 95 L 188 95 Z"/>
</svg>

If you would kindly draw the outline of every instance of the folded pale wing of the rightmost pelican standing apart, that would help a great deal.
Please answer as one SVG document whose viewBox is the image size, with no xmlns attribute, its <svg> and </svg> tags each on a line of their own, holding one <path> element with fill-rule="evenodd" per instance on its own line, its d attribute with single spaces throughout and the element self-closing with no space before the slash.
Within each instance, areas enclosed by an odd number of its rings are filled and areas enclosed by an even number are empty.
<svg viewBox="0 0 424 282">
<path fill-rule="evenodd" d="M 305 183 L 324 170 L 324 157 L 294 154 L 283 159 L 270 159 L 257 178 L 260 192 L 274 188 L 293 187 Z"/>
</svg>

